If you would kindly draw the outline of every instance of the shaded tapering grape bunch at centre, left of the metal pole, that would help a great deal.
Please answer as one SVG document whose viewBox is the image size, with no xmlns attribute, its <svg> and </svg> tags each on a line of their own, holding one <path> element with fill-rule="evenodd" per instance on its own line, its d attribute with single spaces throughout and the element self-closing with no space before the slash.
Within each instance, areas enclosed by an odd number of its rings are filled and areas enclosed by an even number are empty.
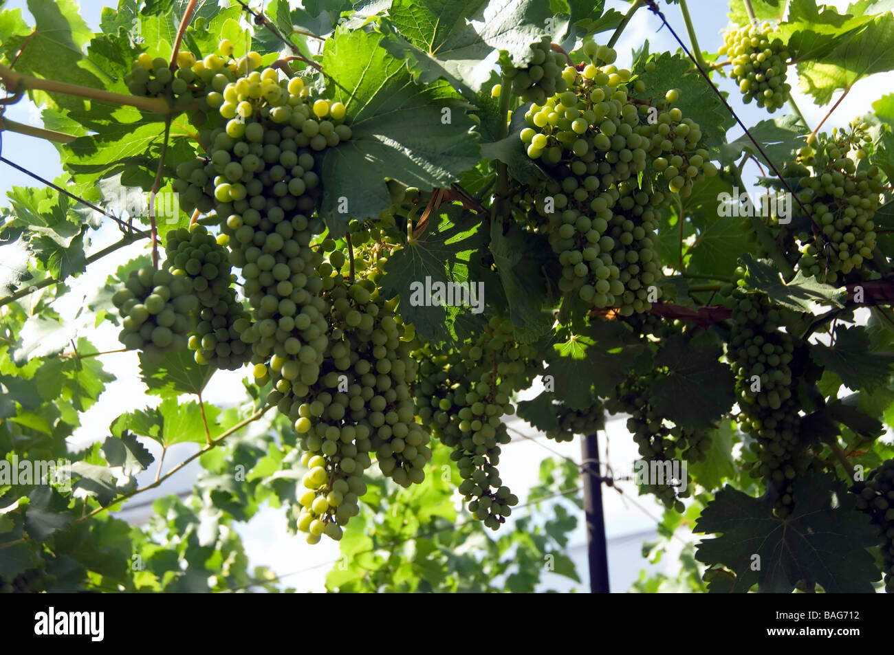
<svg viewBox="0 0 894 655">
<path fill-rule="evenodd" d="M 493 317 L 485 332 L 460 348 L 437 353 L 426 346 L 416 353 L 418 415 L 453 449 L 468 510 L 493 530 L 519 502 L 497 470 L 500 445 L 511 441 L 502 416 L 515 413 L 510 395 L 527 387 L 539 369 L 536 349 L 517 344 L 512 330 L 510 321 Z"/>
</svg>

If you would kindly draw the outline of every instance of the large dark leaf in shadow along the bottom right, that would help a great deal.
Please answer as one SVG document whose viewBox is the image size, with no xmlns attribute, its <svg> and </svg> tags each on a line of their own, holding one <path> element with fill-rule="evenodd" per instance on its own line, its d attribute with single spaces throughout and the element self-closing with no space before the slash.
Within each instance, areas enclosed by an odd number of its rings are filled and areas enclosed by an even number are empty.
<svg viewBox="0 0 894 655">
<path fill-rule="evenodd" d="M 865 549 L 878 537 L 853 494 L 832 474 L 809 473 L 793 487 L 795 508 L 786 519 L 773 516 L 769 496 L 751 498 L 730 486 L 718 491 L 694 532 L 720 536 L 699 542 L 696 558 L 732 569 L 737 592 L 757 584 L 759 592 L 789 593 L 800 580 L 827 593 L 873 592 L 879 572 Z"/>
</svg>

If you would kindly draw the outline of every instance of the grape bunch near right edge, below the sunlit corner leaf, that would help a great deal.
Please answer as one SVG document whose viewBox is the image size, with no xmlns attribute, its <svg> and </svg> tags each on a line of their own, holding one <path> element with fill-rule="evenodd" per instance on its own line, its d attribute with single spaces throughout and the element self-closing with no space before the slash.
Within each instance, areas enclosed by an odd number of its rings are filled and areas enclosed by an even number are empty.
<svg viewBox="0 0 894 655">
<path fill-rule="evenodd" d="M 850 131 L 832 132 L 816 150 L 802 149 L 798 163 L 810 174 L 799 181 L 798 197 L 822 234 L 798 234 L 805 244 L 798 265 L 805 273 L 834 282 L 838 273 L 859 270 L 873 258 L 876 245 L 873 216 L 883 189 L 878 166 L 860 165 L 864 143 L 872 141 L 866 124 L 853 123 Z M 796 205 L 796 213 L 801 208 Z"/>
</svg>

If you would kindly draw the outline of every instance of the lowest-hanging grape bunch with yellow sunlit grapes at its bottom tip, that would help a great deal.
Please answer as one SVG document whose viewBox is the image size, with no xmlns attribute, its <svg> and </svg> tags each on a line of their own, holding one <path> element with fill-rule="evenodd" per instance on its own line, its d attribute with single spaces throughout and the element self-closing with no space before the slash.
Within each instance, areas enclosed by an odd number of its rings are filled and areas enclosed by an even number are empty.
<svg viewBox="0 0 894 655">
<path fill-rule="evenodd" d="M 319 298 L 331 308 L 331 330 L 316 381 L 299 379 L 299 363 L 285 357 L 274 355 L 269 369 L 274 390 L 267 401 L 294 421 L 308 455 L 308 491 L 299 499 L 297 520 L 311 543 L 321 533 L 341 538 L 340 526 L 357 514 L 370 453 L 382 473 L 404 487 L 425 479 L 424 467 L 432 457 L 413 401 L 417 363 L 394 312 L 395 301 L 385 302 L 375 286 L 381 262 L 355 265 L 363 274 L 356 282 L 333 268 L 332 256 L 320 266 L 324 289 Z"/>
</svg>

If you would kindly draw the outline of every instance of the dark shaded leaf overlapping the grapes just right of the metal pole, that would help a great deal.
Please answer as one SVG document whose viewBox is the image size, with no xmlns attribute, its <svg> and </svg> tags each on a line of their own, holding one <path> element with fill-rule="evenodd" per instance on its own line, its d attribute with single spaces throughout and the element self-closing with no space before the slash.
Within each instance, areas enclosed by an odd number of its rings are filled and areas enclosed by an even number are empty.
<svg viewBox="0 0 894 655">
<path fill-rule="evenodd" d="M 654 411 L 692 430 L 715 424 L 736 401 L 735 379 L 720 356 L 721 349 L 707 338 L 666 341 L 655 356 L 655 365 L 668 370 L 652 382 Z"/>
</svg>

